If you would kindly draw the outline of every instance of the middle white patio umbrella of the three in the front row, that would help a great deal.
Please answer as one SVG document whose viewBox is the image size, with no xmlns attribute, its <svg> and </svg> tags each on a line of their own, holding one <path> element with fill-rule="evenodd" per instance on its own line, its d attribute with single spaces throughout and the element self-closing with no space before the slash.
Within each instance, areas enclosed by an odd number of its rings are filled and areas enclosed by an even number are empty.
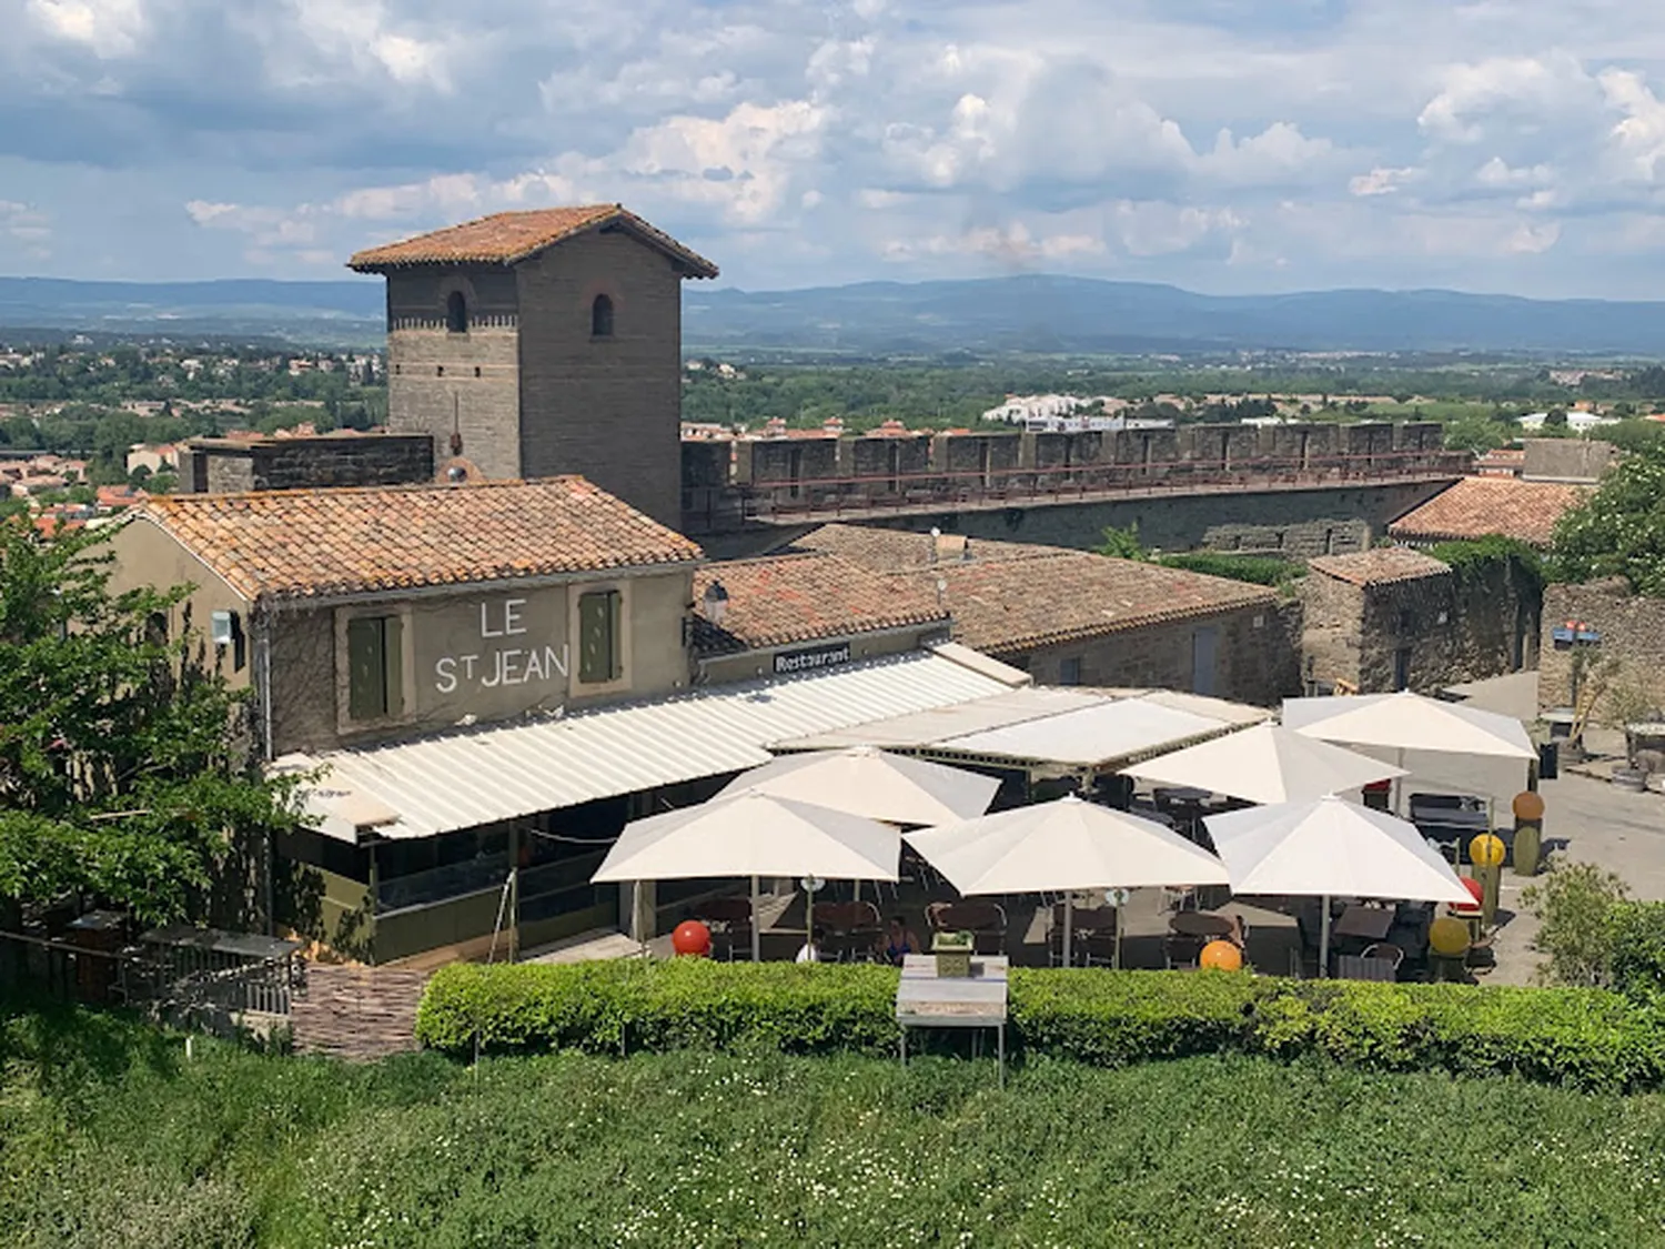
<svg viewBox="0 0 1665 1249">
<path fill-rule="evenodd" d="M 1074 794 L 902 836 L 962 894 L 1062 891 L 1066 966 L 1071 889 L 1227 883 L 1224 863 L 1172 829 Z"/>
</svg>

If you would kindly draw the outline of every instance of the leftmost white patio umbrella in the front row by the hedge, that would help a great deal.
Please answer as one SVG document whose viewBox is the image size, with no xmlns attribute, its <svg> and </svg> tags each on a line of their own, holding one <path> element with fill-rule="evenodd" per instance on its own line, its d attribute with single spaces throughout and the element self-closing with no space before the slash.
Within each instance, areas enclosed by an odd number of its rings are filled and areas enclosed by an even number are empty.
<svg viewBox="0 0 1665 1249">
<path fill-rule="evenodd" d="M 901 849 L 897 831 L 877 819 L 748 789 L 626 824 L 589 879 L 609 884 L 749 876 L 756 959 L 763 944 L 759 876 L 894 881 Z"/>
</svg>

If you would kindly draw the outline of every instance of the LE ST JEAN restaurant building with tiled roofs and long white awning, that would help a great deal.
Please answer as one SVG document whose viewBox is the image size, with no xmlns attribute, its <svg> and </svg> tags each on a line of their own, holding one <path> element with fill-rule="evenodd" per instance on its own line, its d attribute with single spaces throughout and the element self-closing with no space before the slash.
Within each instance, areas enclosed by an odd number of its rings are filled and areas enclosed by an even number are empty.
<svg viewBox="0 0 1665 1249">
<path fill-rule="evenodd" d="M 117 590 L 195 586 L 157 628 L 205 639 L 305 778 L 315 831 L 271 848 L 250 926 L 375 963 L 651 933 L 651 889 L 621 916 L 589 884 L 628 819 L 769 743 L 1027 681 L 936 644 L 931 596 L 818 558 L 701 571 L 578 476 L 157 498 L 113 548 Z"/>
</svg>

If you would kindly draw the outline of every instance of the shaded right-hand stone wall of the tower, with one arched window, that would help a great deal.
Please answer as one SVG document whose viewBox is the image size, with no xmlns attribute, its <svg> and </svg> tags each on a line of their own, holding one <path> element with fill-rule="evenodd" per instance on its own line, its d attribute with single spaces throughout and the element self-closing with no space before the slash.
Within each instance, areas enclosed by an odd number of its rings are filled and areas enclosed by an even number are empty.
<svg viewBox="0 0 1665 1249">
<path fill-rule="evenodd" d="M 681 523 L 683 291 L 669 256 L 589 233 L 514 270 L 523 476 L 583 473 L 654 520 Z M 598 295 L 613 336 L 593 338 Z"/>
</svg>

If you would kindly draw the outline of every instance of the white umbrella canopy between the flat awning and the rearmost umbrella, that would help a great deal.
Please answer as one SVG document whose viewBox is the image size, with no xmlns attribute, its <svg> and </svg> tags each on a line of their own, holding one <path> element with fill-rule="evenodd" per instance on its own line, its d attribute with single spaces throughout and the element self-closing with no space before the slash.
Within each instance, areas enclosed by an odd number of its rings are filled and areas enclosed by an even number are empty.
<svg viewBox="0 0 1665 1249">
<path fill-rule="evenodd" d="M 1330 746 L 1279 724 L 1257 724 L 1122 769 L 1249 803 L 1297 803 L 1404 776 L 1404 768 Z"/>
</svg>

